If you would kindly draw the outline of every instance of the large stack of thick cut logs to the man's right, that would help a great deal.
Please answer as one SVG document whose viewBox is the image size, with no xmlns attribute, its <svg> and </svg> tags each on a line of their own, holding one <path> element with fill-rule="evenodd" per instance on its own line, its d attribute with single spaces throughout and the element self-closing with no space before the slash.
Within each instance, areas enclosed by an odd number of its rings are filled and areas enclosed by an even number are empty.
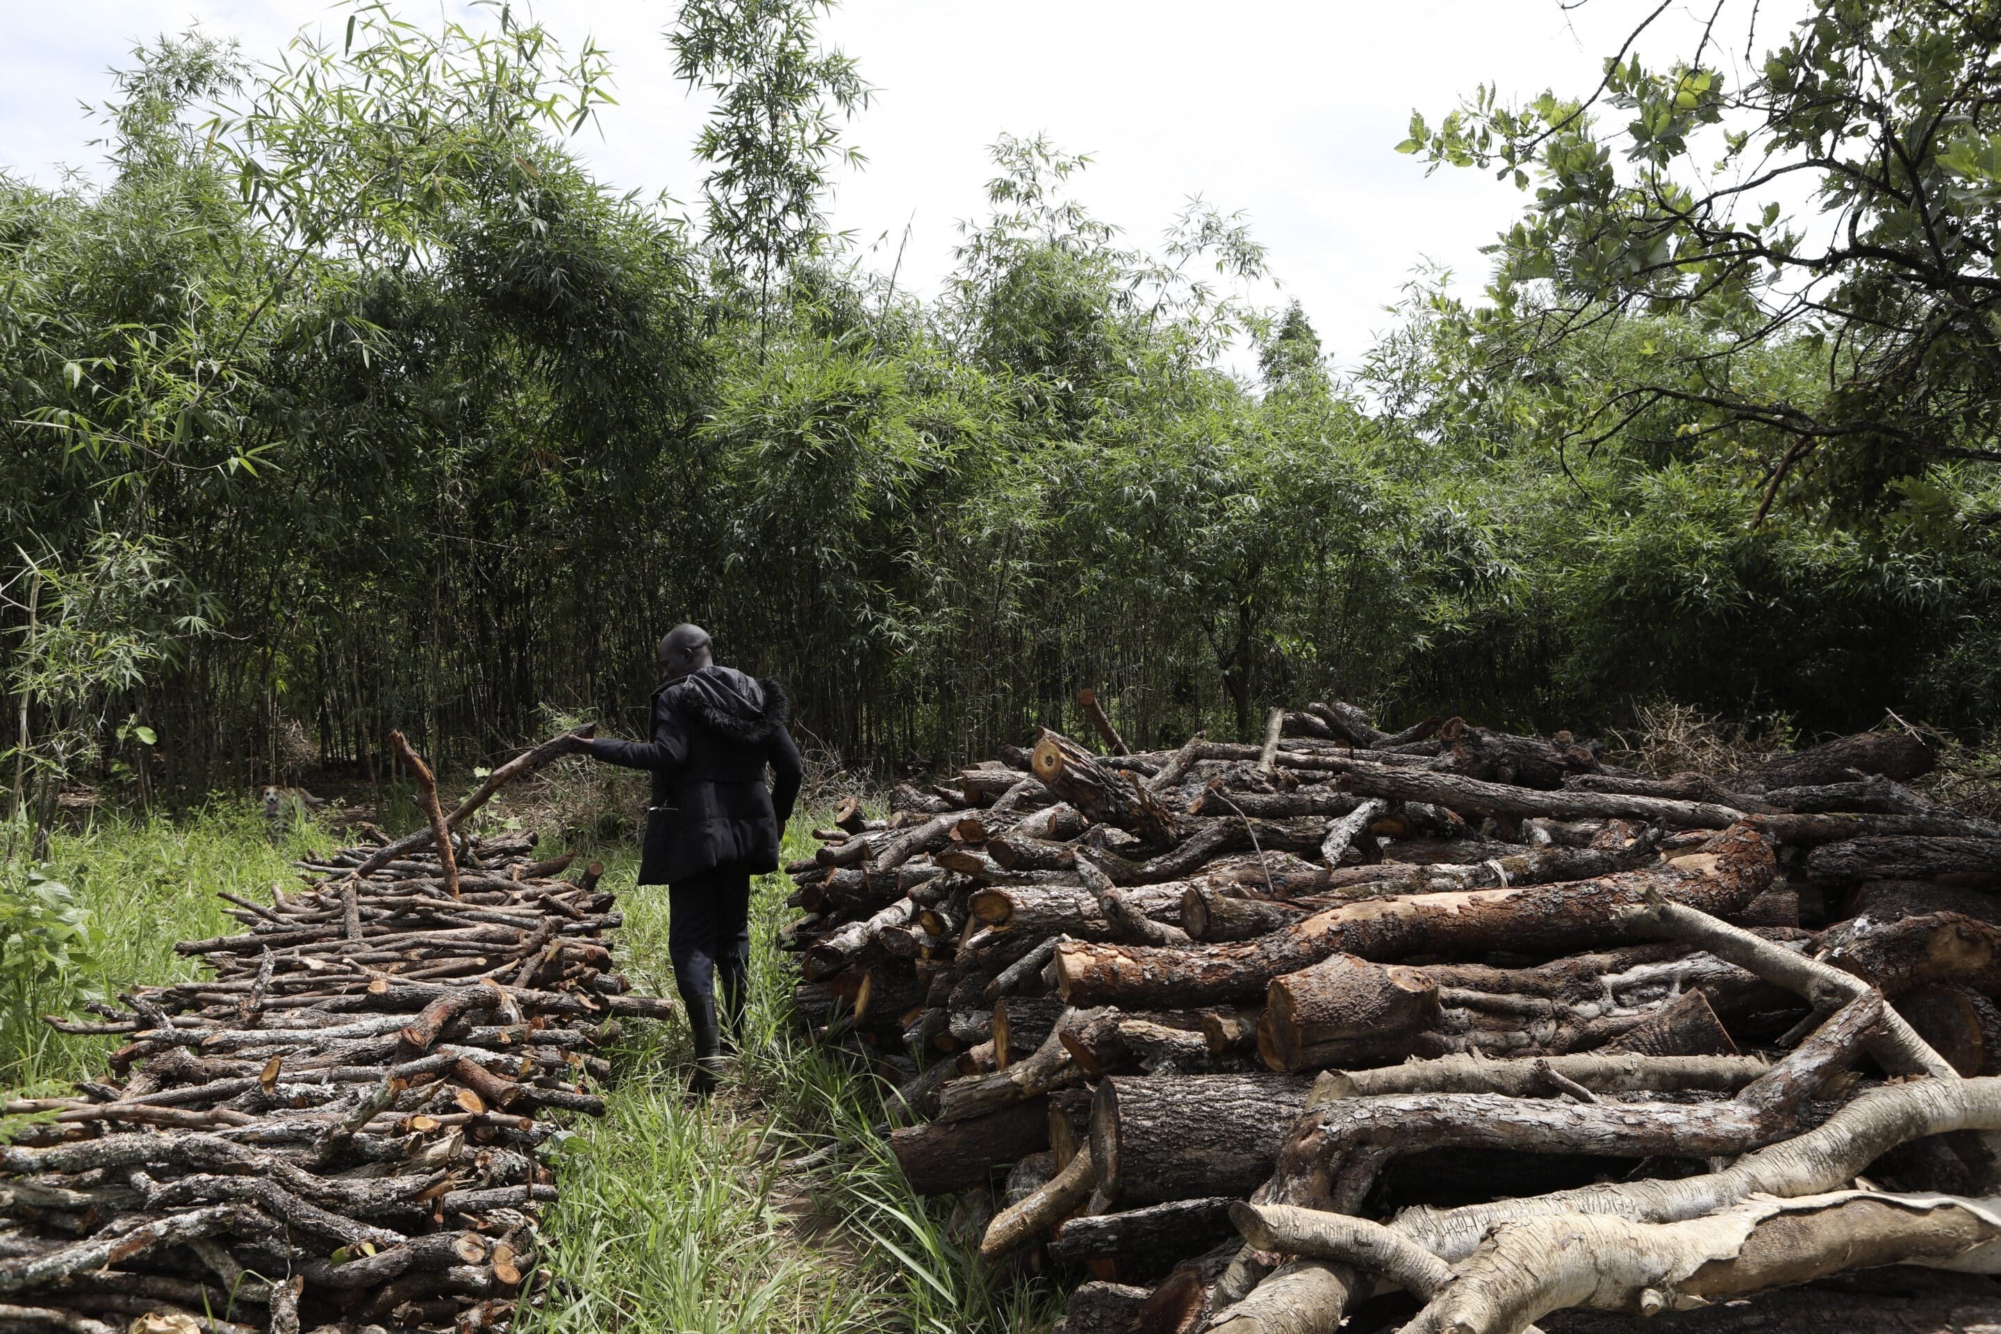
<svg viewBox="0 0 2001 1334">
<path fill-rule="evenodd" d="M 796 1010 L 894 1076 L 892 1150 L 986 1262 L 1087 1280 L 1071 1334 L 2001 1268 L 2001 828 L 1905 786 L 1919 740 L 1651 778 L 1347 704 L 1161 754 L 1087 716 L 1111 754 L 1043 732 L 790 868 Z M 1839 1306 L 2001 1320 L 1951 1282 Z M 1813 1292 L 1673 1328 L 1807 1330 Z"/>
</svg>

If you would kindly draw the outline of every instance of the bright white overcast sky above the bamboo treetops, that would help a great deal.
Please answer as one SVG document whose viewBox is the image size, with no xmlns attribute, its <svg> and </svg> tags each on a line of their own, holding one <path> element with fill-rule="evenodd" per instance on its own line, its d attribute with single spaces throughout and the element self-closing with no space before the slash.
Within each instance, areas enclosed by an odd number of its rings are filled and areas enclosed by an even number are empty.
<svg viewBox="0 0 2001 1334">
<path fill-rule="evenodd" d="M 462 0 L 444 0 L 462 12 Z M 440 0 L 394 6 L 408 20 Z M 672 76 L 662 30 L 672 0 L 540 0 L 532 14 L 566 48 L 594 36 L 612 56 L 618 106 L 586 130 L 582 154 L 620 190 L 668 190 L 694 208 L 702 168 L 690 144 L 706 112 Z M 1437 122 L 1481 82 L 1505 96 L 1543 88 L 1581 96 L 1599 62 L 1653 4 L 1593 0 L 846 0 L 826 42 L 860 60 L 874 106 L 848 140 L 868 166 L 840 180 L 836 228 L 886 236 L 888 268 L 904 224 L 898 286 L 936 290 L 956 222 L 976 218 L 1000 132 L 1047 132 L 1095 166 L 1077 194 L 1137 242 L 1155 242 L 1191 194 L 1245 210 L 1337 364 L 1351 364 L 1383 306 L 1425 260 L 1469 294 L 1479 248 L 1523 204 L 1513 186 L 1465 170 L 1427 178 L 1393 152 L 1411 110 Z M 1807 0 L 1767 0 L 1759 50 Z M 1639 50 L 1667 64 L 1693 44 L 1709 6 L 1671 12 Z M 324 0 L 0 0 L 0 166 L 54 182 L 58 166 L 96 170 L 100 128 L 80 102 L 110 94 L 110 66 L 132 44 L 200 22 L 270 58 L 300 26 L 338 36 L 346 8 Z M 1737 58 L 1741 28 L 1733 34 Z"/>
</svg>

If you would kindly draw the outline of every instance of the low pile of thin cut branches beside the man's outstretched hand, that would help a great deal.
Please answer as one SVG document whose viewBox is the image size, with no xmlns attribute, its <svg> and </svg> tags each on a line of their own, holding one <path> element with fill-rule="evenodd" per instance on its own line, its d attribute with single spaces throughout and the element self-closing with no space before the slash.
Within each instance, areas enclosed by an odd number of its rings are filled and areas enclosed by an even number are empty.
<svg viewBox="0 0 2001 1334">
<path fill-rule="evenodd" d="M 394 738 L 402 742 L 400 736 Z M 18 1100 L 0 1146 L 0 1330 L 298 1334 L 492 1330 L 536 1290 L 538 1160 L 556 1114 L 600 1114 L 592 1048 L 626 994 L 598 866 L 534 836 L 470 838 L 508 778 L 446 816 L 418 774 L 420 834 L 302 862 L 306 886 L 246 928 L 180 942 L 210 976 L 142 986 L 76 1098 Z M 406 748 L 404 748 L 406 750 Z"/>
</svg>

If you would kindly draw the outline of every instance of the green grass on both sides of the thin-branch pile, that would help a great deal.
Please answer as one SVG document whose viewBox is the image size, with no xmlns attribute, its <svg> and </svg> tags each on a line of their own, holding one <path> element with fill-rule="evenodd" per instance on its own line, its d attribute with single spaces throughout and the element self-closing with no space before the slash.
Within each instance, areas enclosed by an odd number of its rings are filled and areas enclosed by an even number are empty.
<svg viewBox="0 0 2001 1334">
<path fill-rule="evenodd" d="M 810 820 L 786 832 L 786 856 L 810 848 Z M 174 942 L 232 930 L 216 890 L 268 898 L 294 884 L 290 860 L 336 840 L 304 830 L 272 846 L 250 806 L 182 820 L 104 822 L 56 838 L 56 876 L 104 932 L 96 964 L 72 982 L 116 994 L 132 982 L 196 974 Z M 630 854 L 606 858 L 624 928 L 618 956 L 634 988 L 672 996 L 666 894 L 634 888 Z M 790 1020 L 792 958 L 774 948 L 792 912 L 788 882 L 768 876 L 752 900 L 748 1042 L 714 1098 L 686 1094 L 688 1034 L 628 1022 L 608 1052 L 616 1078 L 602 1120 L 572 1124 L 556 1162 L 562 1198 L 544 1214 L 546 1262 L 558 1274 L 520 1326 L 752 1334 L 1041 1330 L 1059 1312 L 1047 1282 L 984 1270 L 946 1228 L 946 1208 L 910 1194 L 872 1126 L 882 1088 L 856 1062 L 814 1046 Z M 56 986 L 32 988 L 0 1024 L 0 1082 L 20 1088 L 98 1074 L 114 1040 L 48 1030 Z M 782 1162 L 832 1150 L 822 1166 Z"/>
</svg>

